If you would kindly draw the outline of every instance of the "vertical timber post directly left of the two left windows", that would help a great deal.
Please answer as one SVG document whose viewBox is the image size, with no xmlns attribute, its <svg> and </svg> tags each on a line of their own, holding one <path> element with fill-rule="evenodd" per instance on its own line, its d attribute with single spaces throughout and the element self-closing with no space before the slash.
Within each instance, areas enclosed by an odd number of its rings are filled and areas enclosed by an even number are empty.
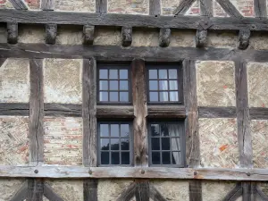
<svg viewBox="0 0 268 201">
<path fill-rule="evenodd" d="M 96 60 L 83 61 L 83 164 L 96 166 Z"/>
</svg>

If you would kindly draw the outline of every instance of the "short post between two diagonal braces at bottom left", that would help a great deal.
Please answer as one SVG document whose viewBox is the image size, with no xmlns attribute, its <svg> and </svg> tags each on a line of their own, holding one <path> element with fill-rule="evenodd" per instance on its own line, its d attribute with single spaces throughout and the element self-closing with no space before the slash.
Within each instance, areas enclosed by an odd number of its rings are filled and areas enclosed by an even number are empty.
<svg viewBox="0 0 268 201">
<path fill-rule="evenodd" d="M 44 181 L 42 179 L 28 180 L 28 194 L 26 201 L 43 201 Z"/>
</svg>

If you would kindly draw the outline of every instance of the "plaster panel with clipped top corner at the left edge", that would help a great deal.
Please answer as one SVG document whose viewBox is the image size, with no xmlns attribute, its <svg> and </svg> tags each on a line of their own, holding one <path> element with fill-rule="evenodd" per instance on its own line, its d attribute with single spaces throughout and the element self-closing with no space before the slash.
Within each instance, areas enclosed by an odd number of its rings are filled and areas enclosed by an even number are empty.
<svg viewBox="0 0 268 201">
<path fill-rule="evenodd" d="M 6 59 L 0 66 L 0 102 L 29 102 L 29 60 Z"/>
</svg>

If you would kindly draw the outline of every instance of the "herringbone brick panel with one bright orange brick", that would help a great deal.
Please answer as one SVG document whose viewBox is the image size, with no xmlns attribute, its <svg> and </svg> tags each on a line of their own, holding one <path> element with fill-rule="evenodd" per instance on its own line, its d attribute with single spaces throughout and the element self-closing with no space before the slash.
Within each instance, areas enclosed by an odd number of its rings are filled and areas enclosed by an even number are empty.
<svg viewBox="0 0 268 201">
<path fill-rule="evenodd" d="M 199 119 L 203 167 L 236 168 L 239 144 L 236 119 Z"/>
</svg>

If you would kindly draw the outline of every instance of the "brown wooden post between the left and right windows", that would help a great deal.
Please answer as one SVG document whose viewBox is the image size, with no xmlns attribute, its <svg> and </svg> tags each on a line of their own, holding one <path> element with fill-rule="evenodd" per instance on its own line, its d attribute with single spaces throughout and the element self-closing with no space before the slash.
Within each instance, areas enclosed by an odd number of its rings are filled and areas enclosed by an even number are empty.
<svg viewBox="0 0 268 201">
<path fill-rule="evenodd" d="M 145 61 L 134 59 L 132 65 L 132 97 L 135 119 L 133 121 L 134 163 L 148 165 L 147 154 L 147 89 Z"/>
</svg>

